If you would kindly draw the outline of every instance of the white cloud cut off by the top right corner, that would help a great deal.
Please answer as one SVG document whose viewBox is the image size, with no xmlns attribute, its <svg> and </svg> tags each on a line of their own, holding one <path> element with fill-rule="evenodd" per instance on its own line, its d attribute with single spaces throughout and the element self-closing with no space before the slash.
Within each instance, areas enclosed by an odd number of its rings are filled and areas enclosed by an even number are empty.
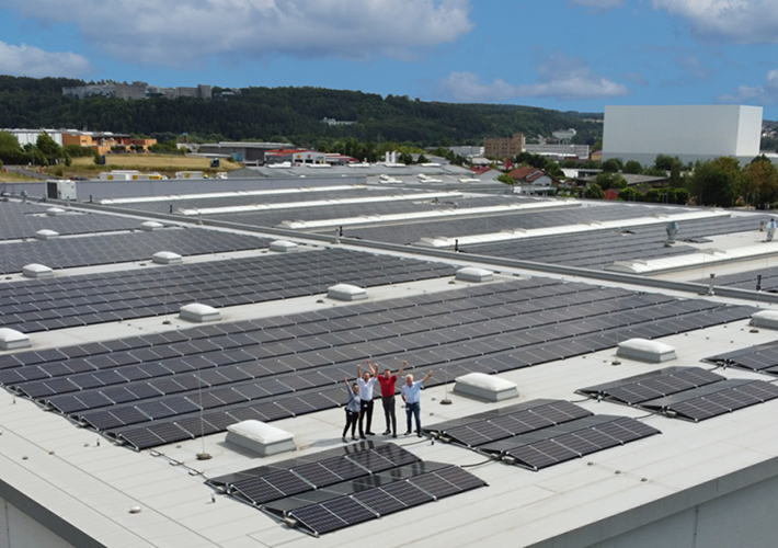
<svg viewBox="0 0 778 548">
<path fill-rule="evenodd" d="M 703 42 L 778 43 L 778 10 L 774 0 L 653 0 L 653 7 L 689 23 Z"/>
</svg>

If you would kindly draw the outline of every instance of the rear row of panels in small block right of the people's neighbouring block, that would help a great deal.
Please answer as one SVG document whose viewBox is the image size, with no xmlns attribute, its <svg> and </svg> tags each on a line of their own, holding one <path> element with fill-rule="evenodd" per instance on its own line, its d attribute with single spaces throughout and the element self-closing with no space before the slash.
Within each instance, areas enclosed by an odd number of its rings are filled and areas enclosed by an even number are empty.
<svg viewBox="0 0 778 548">
<path fill-rule="evenodd" d="M 725 377 L 701 367 L 666 367 L 651 373 L 628 377 L 576 390 L 577 393 L 595 399 L 605 399 L 630 406 L 638 406 L 684 390 L 724 380 Z"/>
</svg>

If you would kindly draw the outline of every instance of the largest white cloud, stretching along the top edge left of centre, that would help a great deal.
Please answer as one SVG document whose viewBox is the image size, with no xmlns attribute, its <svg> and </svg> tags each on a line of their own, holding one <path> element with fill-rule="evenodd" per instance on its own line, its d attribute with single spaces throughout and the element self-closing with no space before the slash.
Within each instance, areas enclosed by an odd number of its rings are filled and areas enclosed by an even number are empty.
<svg viewBox="0 0 778 548">
<path fill-rule="evenodd" d="M 44 24 L 136 64 L 192 65 L 208 55 L 408 59 L 473 24 L 470 0 L 5 0 Z M 106 31 L 110 30 L 110 31 Z M 106 35 L 108 32 L 108 35 Z"/>
</svg>

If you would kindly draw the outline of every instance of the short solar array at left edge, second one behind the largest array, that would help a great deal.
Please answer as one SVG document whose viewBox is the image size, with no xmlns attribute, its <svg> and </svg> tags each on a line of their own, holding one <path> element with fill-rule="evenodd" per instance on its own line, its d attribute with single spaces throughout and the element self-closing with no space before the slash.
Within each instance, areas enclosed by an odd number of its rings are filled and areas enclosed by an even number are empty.
<svg viewBox="0 0 778 548">
<path fill-rule="evenodd" d="M 100 233 L 81 238 L 0 243 L 0 272 L 21 272 L 31 263 L 52 269 L 150 260 L 158 251 L 196 255 L 267 247 L 268 240 L 201 228 Z"/>
</svg>

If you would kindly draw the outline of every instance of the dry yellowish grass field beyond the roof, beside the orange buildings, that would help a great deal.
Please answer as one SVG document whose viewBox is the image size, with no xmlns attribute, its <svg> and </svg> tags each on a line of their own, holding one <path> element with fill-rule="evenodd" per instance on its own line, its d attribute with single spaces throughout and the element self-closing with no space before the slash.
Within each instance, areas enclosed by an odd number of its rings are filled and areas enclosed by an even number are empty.
<svg viewBox="0 0 778 548">
<path fill-rule="evenodd" d="M 219 171 L 231 171 L 240 169 L 236 162 L 221 160 L 221 167 L 210 168 L 209 158 L 190 158 L 175 155 L 105 155 L 105 165 L 98 165 L 92 158 L 73 158 L 73 163 L 69 168 L 56 165 L 46 168 L 44 171 L 54 175 L 58 168 L 62 168 L 62 176 L 96 176 L 101 171 L 111 170 L 137 170 L 141 173 L 160 173 L 174 178 L 176 171 L 204 171 L 208 176 L 215 175 Z"/>
</svg>

